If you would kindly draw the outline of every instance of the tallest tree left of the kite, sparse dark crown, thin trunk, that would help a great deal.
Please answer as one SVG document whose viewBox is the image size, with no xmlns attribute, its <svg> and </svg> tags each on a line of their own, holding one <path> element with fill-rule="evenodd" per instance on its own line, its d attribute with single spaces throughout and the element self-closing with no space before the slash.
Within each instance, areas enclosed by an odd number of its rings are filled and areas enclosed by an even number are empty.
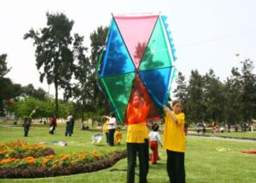
<svg viewBox="0 0 256 183">
<path fill-rule="evenodd" d="M 71 49 L 73 39 L 70 35 L 74 21 L 65 14 L 46 14 L 47 26 L 40 31 L 31 29 L 24 39 L 32 38 L 36 45 L 36 66 L 40 73 L 40 82 L 55 85 L 55 116 L 58 117 L 58 89 L 65 90 L 65 99 L 72 96 L 71 79 L 74 72 L 74 57 Z"/>
</svg>

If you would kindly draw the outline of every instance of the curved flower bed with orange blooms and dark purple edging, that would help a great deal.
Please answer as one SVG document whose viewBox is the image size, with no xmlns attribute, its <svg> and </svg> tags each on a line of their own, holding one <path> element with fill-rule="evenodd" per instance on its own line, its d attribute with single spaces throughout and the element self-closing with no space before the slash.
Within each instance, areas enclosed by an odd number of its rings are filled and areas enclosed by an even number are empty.
<svg viewBox="0 0 256 183">
<path fill-rule="evenodd" d="M 93 172 L 107 169 L 124 157 L 126 152 L 116 151 L 80 151 L 57 156 L 53 149 L 45 146 L 17 141 L 9 145 L 0 144 L 0 178 L 38 178 Z"/>
</svg>

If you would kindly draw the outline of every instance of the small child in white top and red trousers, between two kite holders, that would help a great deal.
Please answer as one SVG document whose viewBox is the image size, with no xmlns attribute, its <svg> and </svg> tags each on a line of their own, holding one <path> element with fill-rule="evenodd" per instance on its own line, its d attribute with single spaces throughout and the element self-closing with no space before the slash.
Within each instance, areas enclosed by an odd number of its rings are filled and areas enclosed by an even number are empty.
<svg viewBox="0 0 256 183">
<path fill-rule="evenodd" d="M 151 156 L 151 163 L 152 164 L 156 164 L 157 159 L 159 157 L 158 144 L 160 144 L 160 146 L 162 146 L 162 140 L 160 138 L 160 134 L 158 132 L 158 129 L 159 129 L 159 124 L 154 123 L 152 125 L 152 131 L 150 131 L 150 133 L 148 134 L 149 140 L 150 140 L 149 147 L 152 150 L 152 156 Z"/>
</svg>

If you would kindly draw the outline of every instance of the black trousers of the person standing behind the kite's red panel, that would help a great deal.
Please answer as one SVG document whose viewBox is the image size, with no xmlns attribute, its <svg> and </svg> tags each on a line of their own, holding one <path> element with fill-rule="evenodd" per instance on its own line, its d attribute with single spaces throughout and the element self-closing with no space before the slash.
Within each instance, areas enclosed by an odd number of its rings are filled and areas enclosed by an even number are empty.
<svg viewBox="0 0 256 183">
<path fill-rule="evenodd" d="M 134 183 L 136 158 L 139 158 L 139 182 L 146 183 L 148 175 L 148 140 L 145 143 L 126 143 L 127 183 Z"/>
</svg>

